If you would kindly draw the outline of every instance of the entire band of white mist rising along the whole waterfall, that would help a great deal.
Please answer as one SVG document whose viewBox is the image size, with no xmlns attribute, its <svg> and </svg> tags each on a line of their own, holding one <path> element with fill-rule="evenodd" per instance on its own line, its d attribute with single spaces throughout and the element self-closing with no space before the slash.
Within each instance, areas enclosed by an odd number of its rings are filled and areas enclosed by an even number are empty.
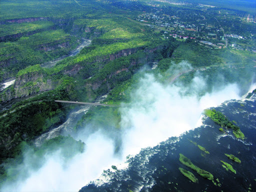
<svg viewBox="0 0 256 192">
<path fill-rule="evenodd" d="M 143 75 L 138 88 L 131 93 L 131 102 L 122 103 L 119 108 L 122 144 L 118 154 L 115 153 L 113 138 L 106 134 L 104 127 L 96 132 L 84 127 L 75 138 L 86 144 L 84 152 L 66 161 L 56 150 L 44 156 L 45 161 L 39 169 L 32 168 L 29 164 L 31 156 L 24 152 L 26 160 L 20 167 L 25 167 L 28 176 L 24 179 L 18 173 L 18 181 L 11 185 L 3 183 L 1 190 L 78 191 L 98 178 L 103 170 L 111 169 L 111 165 L 125 168 L 125 164 L 121 163 L 127 155 L 137 154 L 141 148 L 155 146 L 171 136 L 179 136 L 195 128 L 203 109 L 217 106 L 227 99 L 240 98 L 236 84 L 226 84 L 221 89 L 215 87 L 211 93 L 198 97 L 196 93 L 204 85 L 204 79 L 196 76 L 192 84 L 193 92 L 181 95 L 182 87 L 164 84 L 153 74 Z"/>
</svg>

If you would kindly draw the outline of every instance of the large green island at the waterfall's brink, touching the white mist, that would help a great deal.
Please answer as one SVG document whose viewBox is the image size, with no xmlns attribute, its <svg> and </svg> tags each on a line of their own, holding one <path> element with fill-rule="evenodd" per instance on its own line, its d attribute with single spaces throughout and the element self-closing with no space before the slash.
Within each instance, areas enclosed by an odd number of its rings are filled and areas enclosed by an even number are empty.
<svg viewBox="0 0 256 192">
<path fill-rule="evenodd" d="M 228 120 L 224 114 L 215 109 L 205 109 L 204 114 L 210 117 L 215 123 L 219 124 L 221 127 L 231 128 L 233 134 L 236 138 L 244 139 L 244 134 L 241 132 L 240 127 Z"/>
</svg>

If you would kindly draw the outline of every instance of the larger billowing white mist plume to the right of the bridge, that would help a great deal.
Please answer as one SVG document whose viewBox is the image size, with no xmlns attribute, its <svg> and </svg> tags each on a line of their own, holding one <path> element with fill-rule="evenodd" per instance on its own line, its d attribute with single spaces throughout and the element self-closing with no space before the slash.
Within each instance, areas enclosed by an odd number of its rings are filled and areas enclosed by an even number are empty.
<svg viewBox="0 0 256 192">
<path fill-rule="evenodd" d="M 143 147 L 156 145 L 168 137 L 195 128 L 203 109 L 227 99 L 239 98 L 234 84 L 198 99 L 196 94 L 180 96 L 180 87 L 163 85 L 151 74 L 146 74 L 140 83 L 131 103 L 120 109 L 121 127 L 125 130 L 124 155 L 138 153 Z M 194 90 L 199 91 L 204 86 L 205 82 L 200 78 L 193 79 Z"/>
</svg>

